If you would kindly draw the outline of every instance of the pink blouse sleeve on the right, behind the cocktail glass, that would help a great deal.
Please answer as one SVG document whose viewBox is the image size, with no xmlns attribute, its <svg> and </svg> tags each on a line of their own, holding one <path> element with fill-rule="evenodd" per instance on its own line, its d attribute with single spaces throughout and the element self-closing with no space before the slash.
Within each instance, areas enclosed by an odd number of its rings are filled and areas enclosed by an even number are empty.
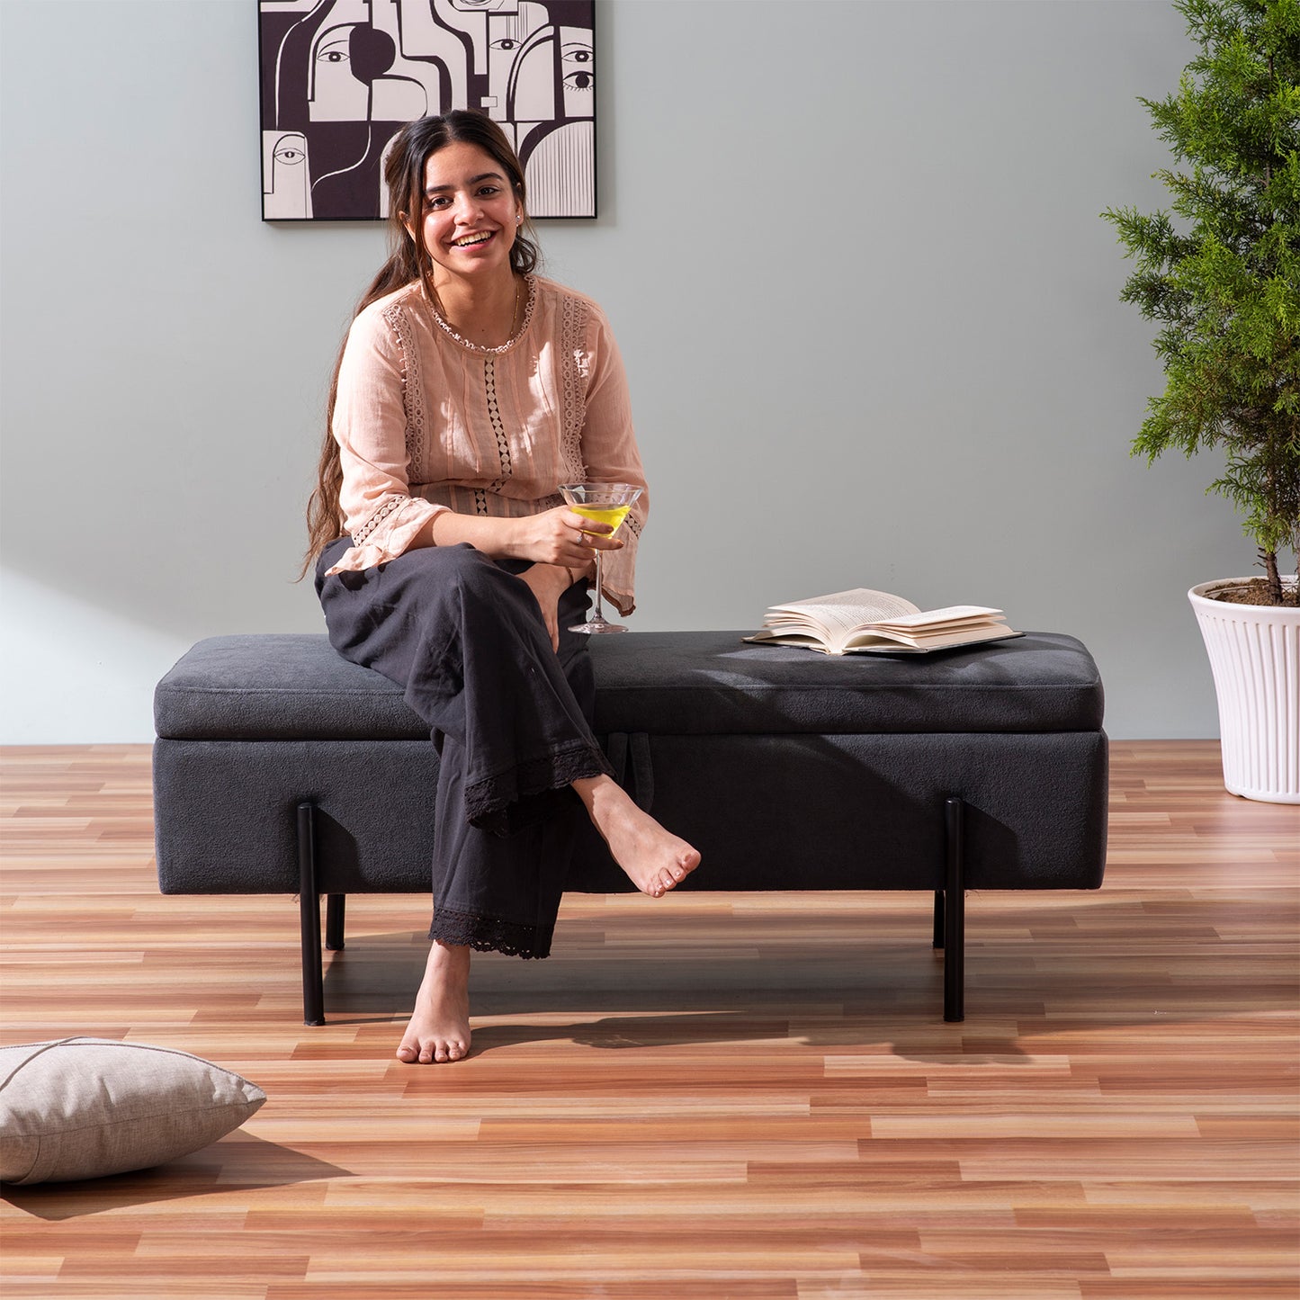
<svg viewBox="0 0 1300 1300">
<path fill-rule="evenodd" d="M 589 318 L 586 411 L 582 422 L 582 463 L 589 478 L 637 484 L 642 491 L 619 536 L 623 549 L 606 551 L 603 592 L 620 614 L 636 607 L 637 543 L 650 511 L 645 471 L 632 429 L 632 400 L 623 358 L 604 313 Z"/>
</svg>

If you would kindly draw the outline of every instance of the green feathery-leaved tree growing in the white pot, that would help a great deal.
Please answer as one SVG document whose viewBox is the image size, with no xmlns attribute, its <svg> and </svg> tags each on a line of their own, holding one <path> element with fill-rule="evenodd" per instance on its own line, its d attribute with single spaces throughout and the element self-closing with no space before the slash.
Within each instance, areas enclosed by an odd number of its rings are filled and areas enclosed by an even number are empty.
<svg viewBox="0 0 1300 1300">
<path fill-rule="evenodd" d="M 1166 376 L 1134 455 L 1218 447 L 1258 547 L 1270 604 L 1278 552 L 1300 556 L 1300 0 L 1175 0 L 1200 55 L 1178 92 L 1143 99 L 1179 170 L 1167 212 L 1104 213 L 1136 266 L 1121 295 L 1160 321 Z"/>
</svg>

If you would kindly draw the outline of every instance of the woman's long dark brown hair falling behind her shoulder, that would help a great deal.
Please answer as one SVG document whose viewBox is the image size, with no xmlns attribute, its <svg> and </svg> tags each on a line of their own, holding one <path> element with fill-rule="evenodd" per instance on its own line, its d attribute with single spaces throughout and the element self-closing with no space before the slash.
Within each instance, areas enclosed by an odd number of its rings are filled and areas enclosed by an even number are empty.
<svg viewBox="0 0 1300 1300">
<path fill-rule="evenodd" d="M 510 250 L 510 266 L 517 276 L 536 270 L 541 260 L 541 250 L 533 238 L 532 222 L 528 218 L 526 191 L 524 188 L 524 169 L 515 156 L 515 150 L 504 131 L 485 113 L 471 109 L 452 109 L 434 117 L 421 117 L 403 126 L 389 146 L 384 162 L 384 182 L 389 188 L 389 260 L 370 281 L 369 289 L 361 295 L 352 313 L 354 320 L 370 303 L 385 294 L 391 294 L 403 285 L 425 276 L 424 259 L 420 256 L 419 242 L 420 217 L 424 212 L 424 164 L 432 153 L 448 144 L 477 144 L 490 153 L 510 178 L 511 188 L 524 211 L 524 224 L 515 234 Z M 407 230 L 407 222 L 416 231 Z M 433 285 L 429 283 L 430 292 Z M 343 343 L 346 344 L 344 338 Z M 343 486 L 343 468 L 339 463 L 338 443 L 334 441 L 334 403 L 338 398 L 338 369 L 343 361 L 343 344 L 334 359 L 334 373 L 329 385 L 329 402 L 325 408 L 325 438 L 321 443 L 321 459 L 316 472 L 316 488 L 307 502 L 307 555 L 299 577 L 316 562 L 316 556 L 343 529 L 339 510 L 339 491 Z"/>
</svg>

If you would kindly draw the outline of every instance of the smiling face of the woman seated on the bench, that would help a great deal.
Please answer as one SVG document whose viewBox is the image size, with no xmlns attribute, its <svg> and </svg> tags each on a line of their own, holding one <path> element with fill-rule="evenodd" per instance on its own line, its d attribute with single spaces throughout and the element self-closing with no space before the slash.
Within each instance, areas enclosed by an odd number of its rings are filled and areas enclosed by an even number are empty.
<svg viewBox="0 0 1300 1300">
<path fill-rule="evenodd" d="M 434 282 L 508 274 L 521 211 L 510 177 L 486 150 L 458 140 L 430 153 L 419 237 L 433 259 Z"/>
</svg>

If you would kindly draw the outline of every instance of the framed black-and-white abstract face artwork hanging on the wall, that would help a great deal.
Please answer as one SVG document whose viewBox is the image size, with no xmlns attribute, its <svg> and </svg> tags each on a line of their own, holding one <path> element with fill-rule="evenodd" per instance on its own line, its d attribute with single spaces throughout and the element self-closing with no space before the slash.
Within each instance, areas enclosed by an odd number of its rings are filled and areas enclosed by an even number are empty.
<svg viewBox="0 0 1300 1300">
<path fill-rule="evenodd" d="M 259 0 L 264 221 L 387 217 L 407 122 L 488 113 L 534 217 L 595 216 L 594 0 Z"/>
</svg>

